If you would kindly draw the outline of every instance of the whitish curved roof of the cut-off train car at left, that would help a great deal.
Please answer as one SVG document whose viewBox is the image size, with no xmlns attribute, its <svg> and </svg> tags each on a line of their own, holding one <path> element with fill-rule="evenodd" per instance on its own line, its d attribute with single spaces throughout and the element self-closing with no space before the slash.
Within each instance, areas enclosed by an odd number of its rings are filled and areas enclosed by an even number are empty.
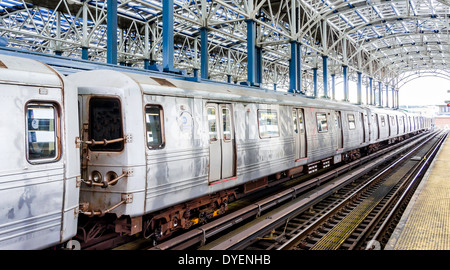
<svg viewBox="0 0 450 270">
<path fill-rule="evenodd" d="M 46 64 L 39 61 L 0 55 L 0 83 L 62 87 L 62 78 Z"/>
</svg>

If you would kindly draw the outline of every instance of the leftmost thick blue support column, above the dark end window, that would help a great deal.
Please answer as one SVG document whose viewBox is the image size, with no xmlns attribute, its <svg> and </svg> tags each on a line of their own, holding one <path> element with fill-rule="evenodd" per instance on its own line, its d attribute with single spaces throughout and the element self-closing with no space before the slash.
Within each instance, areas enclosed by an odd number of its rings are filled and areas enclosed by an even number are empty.
<svg viewBox="0 0 450 270">
<path fill-rule="evenodd" d="M 173 0 L 172 0 L 173 1 Z M 117 64 L 117 1 L 108 0 L 106 9 L 106 62 Z"/>
</svg>

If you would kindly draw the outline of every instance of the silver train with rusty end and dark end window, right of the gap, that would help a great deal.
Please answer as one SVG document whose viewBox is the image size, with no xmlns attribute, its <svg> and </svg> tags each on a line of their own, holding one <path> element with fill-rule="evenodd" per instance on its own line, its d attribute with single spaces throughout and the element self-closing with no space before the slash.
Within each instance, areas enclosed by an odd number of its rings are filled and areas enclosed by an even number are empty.
<svg viewBox="0 0 450 270">
<path fill-rule="evenodd" d="M 359 158 L 431 127 L 401 111 L 120 71 L 78 86 L 81 216 L 164 238 L 227 210 L 237 190 Z"/>
</svg>

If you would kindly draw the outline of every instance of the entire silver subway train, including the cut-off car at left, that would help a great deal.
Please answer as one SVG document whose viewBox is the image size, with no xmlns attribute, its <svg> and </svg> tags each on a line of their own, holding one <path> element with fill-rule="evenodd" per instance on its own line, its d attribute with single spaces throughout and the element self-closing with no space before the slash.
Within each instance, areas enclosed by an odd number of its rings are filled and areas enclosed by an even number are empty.
<svg viewBox="0 0 450 270">
<path fill-rule="evenodd" d="M 0 95 L 0 249 L 108 229 L 158 241 L 432 128 L 398 110 L 120 69 L 65 77 L 6 55 Z"/>
</svg>

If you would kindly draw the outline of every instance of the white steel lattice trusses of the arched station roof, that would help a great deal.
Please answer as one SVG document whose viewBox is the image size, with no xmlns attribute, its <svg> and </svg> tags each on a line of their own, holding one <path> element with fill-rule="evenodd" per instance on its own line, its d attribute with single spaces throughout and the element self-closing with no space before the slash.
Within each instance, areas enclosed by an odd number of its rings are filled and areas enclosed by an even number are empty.
<svg viewBox="0 0 450 270">
<path fill-rule="evenodd" d="M 265 88 L 289 88 L 291 44 L 300 46 L 302 89 L 320 89 L 322 57 L 328 75 L 357 74 L 393 88 L 404 74 L 450 78 L 448 0 L 174 0 L 174 66 L 195 74 L 201 66 L 201 31 L 208 38 L 209 78 L 247 80 L 247 22 L 256 23 Z M 106 1 L 3 0 L 0 36 L 10 47 L 105 62 Z M 144 67 L 162 62 L 162 0 L 118 1 L 118 62 Z M 326 74 L 326 73 L 325 73 Z M 407 80 L 407 79 L 406 79 Z"/>
</svg>

